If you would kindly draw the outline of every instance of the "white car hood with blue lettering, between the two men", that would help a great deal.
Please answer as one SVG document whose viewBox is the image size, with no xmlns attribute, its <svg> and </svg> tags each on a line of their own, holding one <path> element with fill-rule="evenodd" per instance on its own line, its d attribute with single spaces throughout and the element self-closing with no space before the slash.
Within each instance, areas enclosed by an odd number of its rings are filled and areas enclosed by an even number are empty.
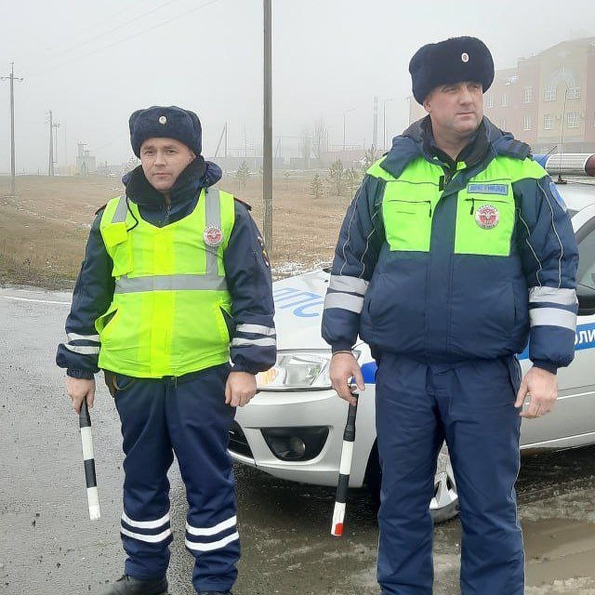
<svg viewBox="0 0 595 595">
<path fill-rule="evenodd" d="M 277 349 L 328 349 L 320 334 L 330 274 L 318 270 L 273 283 Z"/>
</svg>

